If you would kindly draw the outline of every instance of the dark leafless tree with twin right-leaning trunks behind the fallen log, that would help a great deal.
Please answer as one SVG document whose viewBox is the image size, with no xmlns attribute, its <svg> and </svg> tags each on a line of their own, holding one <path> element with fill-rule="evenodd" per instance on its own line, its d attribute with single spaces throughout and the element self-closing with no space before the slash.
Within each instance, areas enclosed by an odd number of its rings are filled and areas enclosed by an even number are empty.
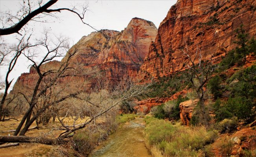
<svg viewBox="0 0 256 157">
<path fill-rule="evenodd" d="M 34 57 L 36 57 L 35 53 L 34 53 L 35 52 L 34 49 L 27 49 L 23 53 L 23 55 L 25 55 L 25 57 L 27 57 L 28 60 L 33 63 L 31 68 L 35 69 L 35 71 L 37 72 L 38 79 L 36 81 L 35 87 L 32 90 L 32 93 L 31 93 L 32 95 L 31 95 L 30 100 L 26 97 L 26 94 L 24 94 L 24 93 L 22 94 L 24 96 L 24 98 L 27 100 L 27 102 L 29 104 L 29 108 L 26 111 L 26 113 L 24 114 L 14 135 L 18 135 L 18 133 L 20 132 L 20 129 L 22 128 L 22 126 L 24 125 L 24 122 L 26 121 L 26 124 L 20 133 L 20 135 L 24 135 L 26 133 L 26 131 L 28 130 L 29 126 L 35 121 L 35 119 L 46 110 L 46 107 L 41 108 L 40 112 L 38 112 L 36 116 L 34 115 L 34 117 L 31 119 L 31 114 L 33 112 L 33 109 L 38 104 L 40 97 L 48 89 L 50 89 L 54 84 L 56 84 L 56 82 L 59 80 L 59 78 L 63 77 L 63 75 L 66 75 L 66 71 L 68 71 L 69 69 L 72 69 L 71 67 L 69 67 L 69 60 L 77 53 L 77 50 L 72 51 L 72 52 L 68 51 L 66 61 L 62 62 L 59 67 L 57 67 L 55 69 L 45 69 L 45 68 L 43 68 L 43 66 L 46 62 L 49 62 L 56 57 L 63 56 L 62 53 L 64 53 L 65 51 L 68 50 L 67 39 L 66 38 L 57 38 L 57 41 L 53 41 L 53 40 L 49 39 L 48 33 L 45 33 L 44 38 L 42 38 L 41 40 L 38 40 L 38 42 L 39 42 L 39 44 L 38 44 L 37 48 L 46 50 L 46 54 L 42 58 L 41 62 L 37 63 L 34 60 Z M 39 49 L 37 49 L 37 50 L 39 50 Z M 50 75 L 52 75 L 53 77 L 50 78 L 49 82 L 44 84 L 43 80 L 46 77 L 49 77 Z M 42 86 L 42 88 L 40 88 L 41 86 Z M 22 92 L 20 92 L 20 93 L 22 93 Z M 61 102 L 65 99 L 67 99 L 68 97 L 72 97 L 73 95 L 76 95 L 76 93 L 70 93 L 69 95 L 62 97 L 59 100 L 55 100 L 55 102 Z M 50 104 L 52 104 L 52 103 L 53 102 L 51 102 Z"/>
</svg>

